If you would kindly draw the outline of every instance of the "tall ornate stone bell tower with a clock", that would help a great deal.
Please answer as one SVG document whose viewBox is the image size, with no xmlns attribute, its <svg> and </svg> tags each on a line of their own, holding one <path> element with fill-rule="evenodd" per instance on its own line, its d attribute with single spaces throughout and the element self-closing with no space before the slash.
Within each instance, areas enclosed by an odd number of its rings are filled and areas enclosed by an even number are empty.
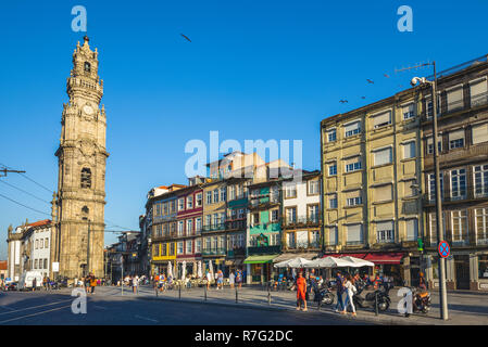
<svg viewBox="0 0 488 347">
<path fill-rule="evenodd" d="M 52 202 L 52 261 L 70 279 L 89 272 L 103 277 L 107 117 L 103 80 L 98 76 L 98 52 L 84 37 L 73 53 L 67 78 L 70 97 L 63 104 L 58 156 L 58 192 Z"/>
</svg>

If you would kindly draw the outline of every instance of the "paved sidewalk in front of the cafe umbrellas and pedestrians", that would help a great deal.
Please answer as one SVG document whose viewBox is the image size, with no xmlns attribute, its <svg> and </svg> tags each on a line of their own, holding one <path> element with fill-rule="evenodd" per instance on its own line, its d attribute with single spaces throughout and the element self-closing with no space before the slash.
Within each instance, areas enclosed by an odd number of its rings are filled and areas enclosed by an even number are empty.
<svg viewBox="0 0 488 347">
<path fill-rule="evenodd" d="M 121 296 L 120 287 L 98 287 L 98 290 L 101 295 Z M 323 306 L 317 310 L 315 303 L 309 303 L 309 311 L 302 313 L 317 316 L 326 314 L 328 317 L 336 317 L 339 320 L 355 320 L 365 323 L 390 325 L 488 325 L 488 300 L 483 294 L 448 293 L 449 320 L 442 321 L 440 319 L 439 298 L 436 292 L 431 292 L 433 306 L 430 312 L 428 314 L 415 313 L 410 318 L 405 318 L 398 313 L 397 305 L 401 297 L 398 297 L 397 293 L 398 290 L 390 291 L 391 306 L 386 312 L 379 313 L 378 316 L 375 316 L 372 309 L 356 308 L 356 318 L 352 318 L 350 314 L 346 317 L 334 312 L 335 304 L 333 306 Z M 129 288 L 124 288 L 124 297 L 127 298 L 199 304 L 207 303 L 211 305 L 218 304 L 249 309 L 296 311 L 296 292 L 271 292 L 268 297 L 268 292 L 266 290 L 242 287 L 237 292 L 237 296 L 236 303 L 236 290 L 230 290 L 229 287 L 220 291 L 212 287 L 210 291 L 207 291 L 207 300 L 203 287 L 182 290 L 180 298 L 178 290 L 158 293 L 157 296 L 154 290 L 150 286 L 139 287 L 139 294 L 134 294 Z"/>
</svg>

